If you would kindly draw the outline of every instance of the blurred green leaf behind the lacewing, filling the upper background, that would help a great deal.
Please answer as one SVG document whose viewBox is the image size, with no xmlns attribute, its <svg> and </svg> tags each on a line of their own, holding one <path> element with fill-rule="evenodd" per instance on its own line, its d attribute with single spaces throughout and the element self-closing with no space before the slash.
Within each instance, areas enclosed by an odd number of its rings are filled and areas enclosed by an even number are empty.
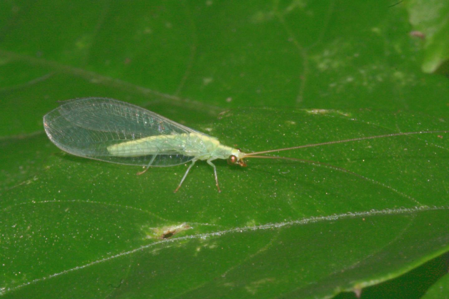
<svg viewBox="0 0 449 299">
<path fill-rule="evenodd" d="M 168 106 L 183 99 L 196 116 L 279 105 L 448 114 L 449 83 L 420 71 L 423 45 L 397 1 L 53 2 L 0 3 L 3 136 L 89 96 L 157 101 L 175 121 L 184 107 Z"/>
</svg>

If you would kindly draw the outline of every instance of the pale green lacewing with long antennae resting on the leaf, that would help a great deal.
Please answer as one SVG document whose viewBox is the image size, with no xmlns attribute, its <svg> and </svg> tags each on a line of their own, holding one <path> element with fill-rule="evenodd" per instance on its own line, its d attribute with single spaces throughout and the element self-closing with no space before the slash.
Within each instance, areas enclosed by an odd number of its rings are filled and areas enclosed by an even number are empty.
<svg viewBox="0 0 449 299">
<path fill-rule="evenodd" d="M 191 161 L 175 192 L 179 190 L 197 160 L 206 160 L 207 164 L 212 166 L 217 189 L 221 192 L 216 166 L 212 163 L 216 159 L 227 159 L 230 164 L 240 166 L 246 166 L 246 158 L 287 159 L 328 165 L 317 161 L 260 155 L 366 139 L 448 132 L 393 133 L 245 153 L 221 144 L 215 137 L 136 105 L 93 97 L 69 100 L 50 111 L 44 116 L 44 129 L 57 147 L 72 155 L 118 164 L 146 166 L 145 170 L 137 174 L 144 173 L 150 167 L 181 165 Z M 350 172 L 336 166 L 328 166 Z"/>
</svg>

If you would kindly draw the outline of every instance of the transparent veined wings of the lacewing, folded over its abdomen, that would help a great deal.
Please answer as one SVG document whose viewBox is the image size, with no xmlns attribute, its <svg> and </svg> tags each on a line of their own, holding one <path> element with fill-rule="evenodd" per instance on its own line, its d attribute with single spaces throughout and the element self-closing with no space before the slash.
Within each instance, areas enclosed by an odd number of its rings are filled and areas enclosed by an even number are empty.
<svg viewBox="0 0 449 299">
<path fill-rule="evenodd" d="M 191 147 L 186 137 L 202 134 L 144 108 L 105 98 L 67 101 L 44 116 L 44 129 L 70 154 L 142 166 L 193 160 L 195 156 L 184 151 Z"/>
</svg>

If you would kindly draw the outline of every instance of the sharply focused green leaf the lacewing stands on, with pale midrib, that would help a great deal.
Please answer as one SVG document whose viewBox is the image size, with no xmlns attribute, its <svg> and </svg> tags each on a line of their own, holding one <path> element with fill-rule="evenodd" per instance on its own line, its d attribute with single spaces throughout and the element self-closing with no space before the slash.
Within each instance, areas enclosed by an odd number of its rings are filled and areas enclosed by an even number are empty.
<svg viewBox="0 0 449 299">
<path fill-rule="evenodd" d="M 206 128 L 243 151 L 448 129 L 407 113 L 280 109 L 231 111 Z M 43 161 L 3 191 L 4 294 L 312 298 L 387 280 L 448 250 L 448 140 L 286 152 L 335 166 L 217 162 L 222 193 L 198 163 L 174 194 L 183 165 L 136 176 L 136 167 L 62 154 L 44 134 L 6 139 L 9 159 Z"/>
</svg>

